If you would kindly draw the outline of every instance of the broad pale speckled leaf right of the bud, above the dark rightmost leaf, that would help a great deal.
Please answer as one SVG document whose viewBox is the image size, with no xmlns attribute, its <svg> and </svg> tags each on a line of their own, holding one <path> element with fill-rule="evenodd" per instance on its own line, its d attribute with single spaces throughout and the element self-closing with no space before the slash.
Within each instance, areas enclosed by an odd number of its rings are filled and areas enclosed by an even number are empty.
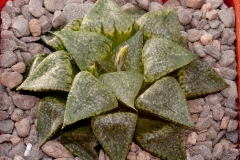
<svg viewBox="0 0 240 160">
<path fill-rule="evenodd" d="M 145 43 L 142 53 L 144 81 L 154 82 L 196 58 L 196 54 L 170 40 L 151 38 Z"/>
</svg>

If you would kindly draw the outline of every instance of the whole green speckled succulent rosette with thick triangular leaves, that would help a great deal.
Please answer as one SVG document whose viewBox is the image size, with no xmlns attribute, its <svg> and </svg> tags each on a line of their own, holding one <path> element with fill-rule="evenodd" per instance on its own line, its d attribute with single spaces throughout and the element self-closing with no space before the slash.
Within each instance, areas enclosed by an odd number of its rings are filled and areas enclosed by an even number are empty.
<svg viewBox="0 0 240 160">
<path fill-rule="evenodd" d="M 123 11 L 98 0 L 42 40 L 55 52 L 33 57 L 17 90 L 44 93 L 39 147 L 61 135 L 84 160 L 97 159 L 99 147 L 124 160 L 132 141 L 161 159 L 186 159 L 184 129 L 194 127 L 187 98 L 228 87 L 186 49 L 174 9 Z"/>
</svg>

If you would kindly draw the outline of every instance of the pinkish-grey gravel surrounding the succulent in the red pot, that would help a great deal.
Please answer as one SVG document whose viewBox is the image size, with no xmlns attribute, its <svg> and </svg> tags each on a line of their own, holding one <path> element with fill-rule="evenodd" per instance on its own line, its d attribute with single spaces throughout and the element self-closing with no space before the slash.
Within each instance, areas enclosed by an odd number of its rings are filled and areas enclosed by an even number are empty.
<svg viewBox="0 0 240 160">
<path fill-rule="evenodd" d="M 192 52 L 230 85 L 220 93 L 189 100 L 195 129 L 186 130 L 188 160 L 235 160 L 239 156 L 237 117 L 237 62 L 235 16 L 223 0 L 116 0 L 123 9 L 140 5 L 151 11 L 175 7 L 181 34 Z M 204 4 L 203 4 L 204 3 Z M 9 0 L 1 12 L 0 54 L 0 160 L 80 160 L 73 157 L 58 139 L 37 149 L 35 126 L 40 99 L 14 90 L 22 83 L 25 63 L 39 52 L 51 51 L 38 43 L 40 35 L 81 17 L 91 9 L 91 0 Z M 182 6 L 180 6 L 182 5 Z M 25 152 L 31 147 L 30 153 Z M 27 156 L 25 155 L 27 154 Z M 99 160 L 108 160 L 101 150 Z M 159 160 L 134 143 L 128 160 Z"/>
</svg>

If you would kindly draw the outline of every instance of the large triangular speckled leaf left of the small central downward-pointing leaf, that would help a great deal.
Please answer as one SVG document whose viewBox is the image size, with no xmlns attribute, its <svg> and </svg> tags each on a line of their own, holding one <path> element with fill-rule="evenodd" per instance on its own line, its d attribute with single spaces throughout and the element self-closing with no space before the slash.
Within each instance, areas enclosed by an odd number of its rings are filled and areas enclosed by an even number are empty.
<svg viewBox="0 0 240 160">
<path fill-rule="evenodd" d="M 118 102 L 100 80 L 87 71 L 79 72 L 68 94 L 63 127 L 117 108 Z"/>
</svg>

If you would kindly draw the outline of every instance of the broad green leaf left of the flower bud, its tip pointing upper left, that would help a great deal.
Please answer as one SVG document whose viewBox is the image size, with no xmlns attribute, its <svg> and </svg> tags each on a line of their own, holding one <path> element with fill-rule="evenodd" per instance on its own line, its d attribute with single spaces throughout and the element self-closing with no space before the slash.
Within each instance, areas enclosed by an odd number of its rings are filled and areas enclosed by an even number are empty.
<svg viewBox="0 0 240 160">
<path fill-rule="evenodd" d="M 54 34 L 61 39 L 82 71 L 89 70 L 95 61 L 102 61 L 111 54 L 112 42 L 103 35 L 82 31 L 60 31 Z"/>
</svg>

